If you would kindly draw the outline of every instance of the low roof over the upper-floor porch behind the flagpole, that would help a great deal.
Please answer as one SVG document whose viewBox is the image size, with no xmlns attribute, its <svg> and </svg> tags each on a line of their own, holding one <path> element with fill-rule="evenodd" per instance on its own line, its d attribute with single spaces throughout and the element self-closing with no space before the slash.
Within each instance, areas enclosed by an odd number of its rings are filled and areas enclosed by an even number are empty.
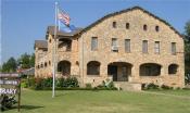
<svg viewBox="0 0 190 113">
<path fill-rule="evenodd" d="M 65 33 L 63 30 L 58 30 L 59 28 L 56 27 L 56 35 L 59 36 L 65 36 L 65 37 L 72 37 L 81 32 L 83 28 L 76 28 L 76 30 L 71 32 L 71 33 Z M 48 26 L 47 34 L 54 35 L 54 26 Z"/>
</svg>

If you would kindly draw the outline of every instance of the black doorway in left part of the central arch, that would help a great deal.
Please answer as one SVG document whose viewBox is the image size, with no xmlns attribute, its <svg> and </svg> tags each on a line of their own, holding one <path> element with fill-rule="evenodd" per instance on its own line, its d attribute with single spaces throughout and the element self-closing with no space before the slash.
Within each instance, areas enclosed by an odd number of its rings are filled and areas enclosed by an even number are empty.
<svg viewBox="0 0 190 113">
<path fill-rule="evenodd" d="M 117 81 L 117 66 L 109 65 L 109 75 L 113 76 L 113 81 Z"/>
</svg>

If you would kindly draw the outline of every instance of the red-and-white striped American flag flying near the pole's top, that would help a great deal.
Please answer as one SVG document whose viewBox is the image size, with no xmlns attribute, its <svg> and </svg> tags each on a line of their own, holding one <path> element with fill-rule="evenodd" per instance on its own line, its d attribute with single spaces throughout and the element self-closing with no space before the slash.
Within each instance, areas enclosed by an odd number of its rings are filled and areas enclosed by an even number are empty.
<svg viewBox="0 0 190 113">
<path fill-rule="evenodd" d="M 69 21 L 71 21 L 69 15 L 64 11 L 62 11 L 61 9 L 59 9 L 58 18 L 66 26 L 69 26 Z"/>
</svg>

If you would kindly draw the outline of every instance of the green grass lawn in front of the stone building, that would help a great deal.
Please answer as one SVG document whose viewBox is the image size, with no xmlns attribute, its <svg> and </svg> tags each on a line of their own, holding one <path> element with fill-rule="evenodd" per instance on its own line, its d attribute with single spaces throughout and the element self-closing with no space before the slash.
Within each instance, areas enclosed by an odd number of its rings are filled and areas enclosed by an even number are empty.
<svg viewBox="0 0 190 113">
<path fill-rule="evenodd" d="M 190 90 L 150 92 L 62 90 L 52 99 L 51 91 L 23 90 L 21 113 L 190 113 Z"/>
</svg>

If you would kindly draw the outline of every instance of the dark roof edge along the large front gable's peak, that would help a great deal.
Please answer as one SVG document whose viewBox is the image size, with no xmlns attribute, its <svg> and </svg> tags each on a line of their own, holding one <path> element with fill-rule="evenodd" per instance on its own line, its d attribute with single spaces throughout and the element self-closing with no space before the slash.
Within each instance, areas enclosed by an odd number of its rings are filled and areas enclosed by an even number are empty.
<svg viewBox="0 0 190 113">
<path fill-rule="evenodd" d="M 166 21 L 160 18 L 159 16 L 150 13 L 149 11 L 140 8 L 140 7 L 132 7 L 132 8 L 129 8 L 129 9 L 126 9 L 126 10 L 122 10 L 122 11 L 118 11 L 118 12 L 114 12 L 114 13 L 111 13 L 111 14 L 107 14 L 103 17 L 101 17 L 100 20 L 98 20 L 97 22 L 92 23 L 91 25 L 87 26 L 86 28 L 84 28 L 81 32 L 78 33 L 78 35 L 81 35 L 83 33 L 87 32 L 88 29 L 90 29 L 91 27 L 93 27 L 94 25 L 101 23 L 102 21 L 111 17 L 111 16 L 115 16 L 115 15 L 118 15 L 118 14 L 122 14 L 122 13 L 126 13 L 126 12 L 129 12 L 129 11 L 134 11 L 134 10 L 141 10 L 142 12 L 149 14 L 150 16 L 163 22 L 165 25 L 169 26 L 170 29 L 173 29 L 176 34 L 178 34 L 180 37 L 182 37 L 182 35 L 180 33 L 178 33 L 169 23 L 167 23 Z"/>
</svg>

